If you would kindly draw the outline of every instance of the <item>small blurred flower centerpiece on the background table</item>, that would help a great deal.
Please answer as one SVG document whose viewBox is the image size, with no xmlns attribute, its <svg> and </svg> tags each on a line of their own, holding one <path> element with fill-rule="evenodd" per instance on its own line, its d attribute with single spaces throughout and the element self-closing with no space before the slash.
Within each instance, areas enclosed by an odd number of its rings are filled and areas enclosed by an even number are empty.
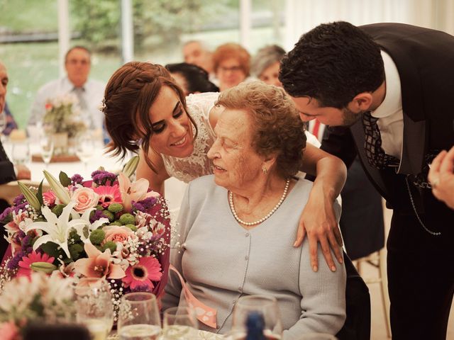
<svg viewBox="0 0 454 340">
<path fill-rule="evenodd" d="M 45 103 L 43 125 L 46 133 L 53 137 L 55 154 L 67 154 L 68 141 L 87 130 L 87 125 L 80 118 L 78 103 L 75 94 L 57 96 Z"/>
</svg>

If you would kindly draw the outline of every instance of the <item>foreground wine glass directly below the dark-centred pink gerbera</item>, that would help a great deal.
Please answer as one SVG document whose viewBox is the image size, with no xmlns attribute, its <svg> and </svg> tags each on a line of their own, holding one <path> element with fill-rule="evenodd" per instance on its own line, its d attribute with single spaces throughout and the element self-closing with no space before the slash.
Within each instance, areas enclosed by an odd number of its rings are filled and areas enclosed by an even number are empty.
<svg viewBox="0 0 454 340">
<path fill-rule="evenodd" d="M 155 340 L 161 332 L 161 321 L 155 295 L 128 293 L 121 297 L 118 310 L 120 340 Z"/>
</svg>

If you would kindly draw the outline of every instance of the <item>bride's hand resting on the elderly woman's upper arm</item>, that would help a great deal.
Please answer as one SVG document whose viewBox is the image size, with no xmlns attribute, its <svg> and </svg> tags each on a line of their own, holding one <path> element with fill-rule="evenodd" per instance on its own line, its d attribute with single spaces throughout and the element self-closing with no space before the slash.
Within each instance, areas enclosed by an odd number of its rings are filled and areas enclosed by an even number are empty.
<svg viewBox="0 0 454 340">
<path fill-rule="evenodd" d="M 323 189 L 318 186 L 312 188 L 309 200 L 301 213 L 297 241 L 294 246 L 299 246 L 306 234 L 309 239 L 312 269 L 314 271 L 319 270 L 317 247 L 318 243 L 320 243 L 328 267 L 331 271 L 336 271 L 330 248 L 333 249 L 339 263 L 343 263 L 341 232 L 336 222 L 333 200 L 326 197 Z"/>
</svg>

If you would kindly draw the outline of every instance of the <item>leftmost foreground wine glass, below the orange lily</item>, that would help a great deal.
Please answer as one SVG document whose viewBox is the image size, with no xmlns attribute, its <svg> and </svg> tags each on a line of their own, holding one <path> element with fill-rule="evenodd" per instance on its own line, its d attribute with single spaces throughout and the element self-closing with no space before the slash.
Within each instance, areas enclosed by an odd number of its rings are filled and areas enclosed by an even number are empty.
<svg viewBox="0 0 454 340">
<path fill-rule="evenodd" d="M 109 283 L 102 278 L 81 278 L 74 293 L 77 322 L 87 327 L 92 340 L 105 340 L 114 324 Z"/>
</svg>

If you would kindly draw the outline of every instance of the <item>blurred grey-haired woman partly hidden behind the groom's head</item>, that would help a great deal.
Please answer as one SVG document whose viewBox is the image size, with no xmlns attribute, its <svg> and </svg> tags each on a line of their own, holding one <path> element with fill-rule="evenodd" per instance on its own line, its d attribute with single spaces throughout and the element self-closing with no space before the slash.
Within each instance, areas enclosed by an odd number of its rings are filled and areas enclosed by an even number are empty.
<svg viewBox="0 0 454 340">
<path fill-rule="evenodd" d="M 268 45 L 260 48 L 251 62 L 252 74 L 269 85 L 281 86 L 279 69 L 285 51 L 277 45 Z"/>
</svg>

